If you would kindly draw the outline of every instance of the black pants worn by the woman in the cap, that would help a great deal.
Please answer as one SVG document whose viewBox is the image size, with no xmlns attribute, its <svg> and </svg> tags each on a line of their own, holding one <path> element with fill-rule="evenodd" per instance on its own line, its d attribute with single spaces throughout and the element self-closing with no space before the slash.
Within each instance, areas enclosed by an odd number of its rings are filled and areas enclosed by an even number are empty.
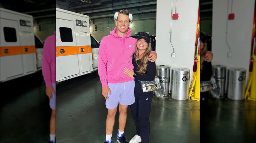
<svg viewBox="0 0 256 143">
<path fill-rule="evenodd" d="M 141 92 L 139 83 L 135 83 L 134 89 L 135 103 L 130 105 L 131 114 L 136 126 L 136 135 L 140 135 L 142 143 L 149 143 L 149 115 L 151 112 L 151 103 L 153 91 Z"/>
</svg>

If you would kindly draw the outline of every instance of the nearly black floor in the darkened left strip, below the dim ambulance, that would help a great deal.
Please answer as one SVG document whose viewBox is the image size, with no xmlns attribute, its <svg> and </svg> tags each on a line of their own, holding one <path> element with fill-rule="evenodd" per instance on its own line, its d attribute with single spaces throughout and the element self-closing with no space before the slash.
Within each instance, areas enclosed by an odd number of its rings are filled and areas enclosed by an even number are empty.
<svg viewBox="0 0 256 143">
<path fill-rule="evenodd" d="M 0 85 L 0 142 L 47 143 L 50 139 L 51 109 L 42 72 Z"/>
</svg>

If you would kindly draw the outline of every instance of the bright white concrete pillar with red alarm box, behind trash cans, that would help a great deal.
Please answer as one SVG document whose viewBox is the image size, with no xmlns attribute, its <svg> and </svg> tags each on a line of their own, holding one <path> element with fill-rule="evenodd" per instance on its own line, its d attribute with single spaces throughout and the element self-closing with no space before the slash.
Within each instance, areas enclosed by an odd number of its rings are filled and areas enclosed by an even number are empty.
<svg viewBox="0 0 256 143">
<path fill-rule="evenodd" d="M 156 64 L 169 65 L 171 66 L 171 71 L 173 68 L 190 69 L 191 84 L 199 0 L 177 1 L 177 8 L 175 3 L 175 0 L 157 1 L 156 52 L 158 58 Z M 175 13 L 175 11 L 179 14 L 179 19 L 171 20 L 171 13 Z M 172 32 L 172 36 L 170 32 Z M 172 45 L 176 53 L 175 57 L 171 56 L 174 51 L 170 42 L 171 37 Z M 170 74 L 170 90 L 171 78 L 172 72 Z"/>
</svg>

